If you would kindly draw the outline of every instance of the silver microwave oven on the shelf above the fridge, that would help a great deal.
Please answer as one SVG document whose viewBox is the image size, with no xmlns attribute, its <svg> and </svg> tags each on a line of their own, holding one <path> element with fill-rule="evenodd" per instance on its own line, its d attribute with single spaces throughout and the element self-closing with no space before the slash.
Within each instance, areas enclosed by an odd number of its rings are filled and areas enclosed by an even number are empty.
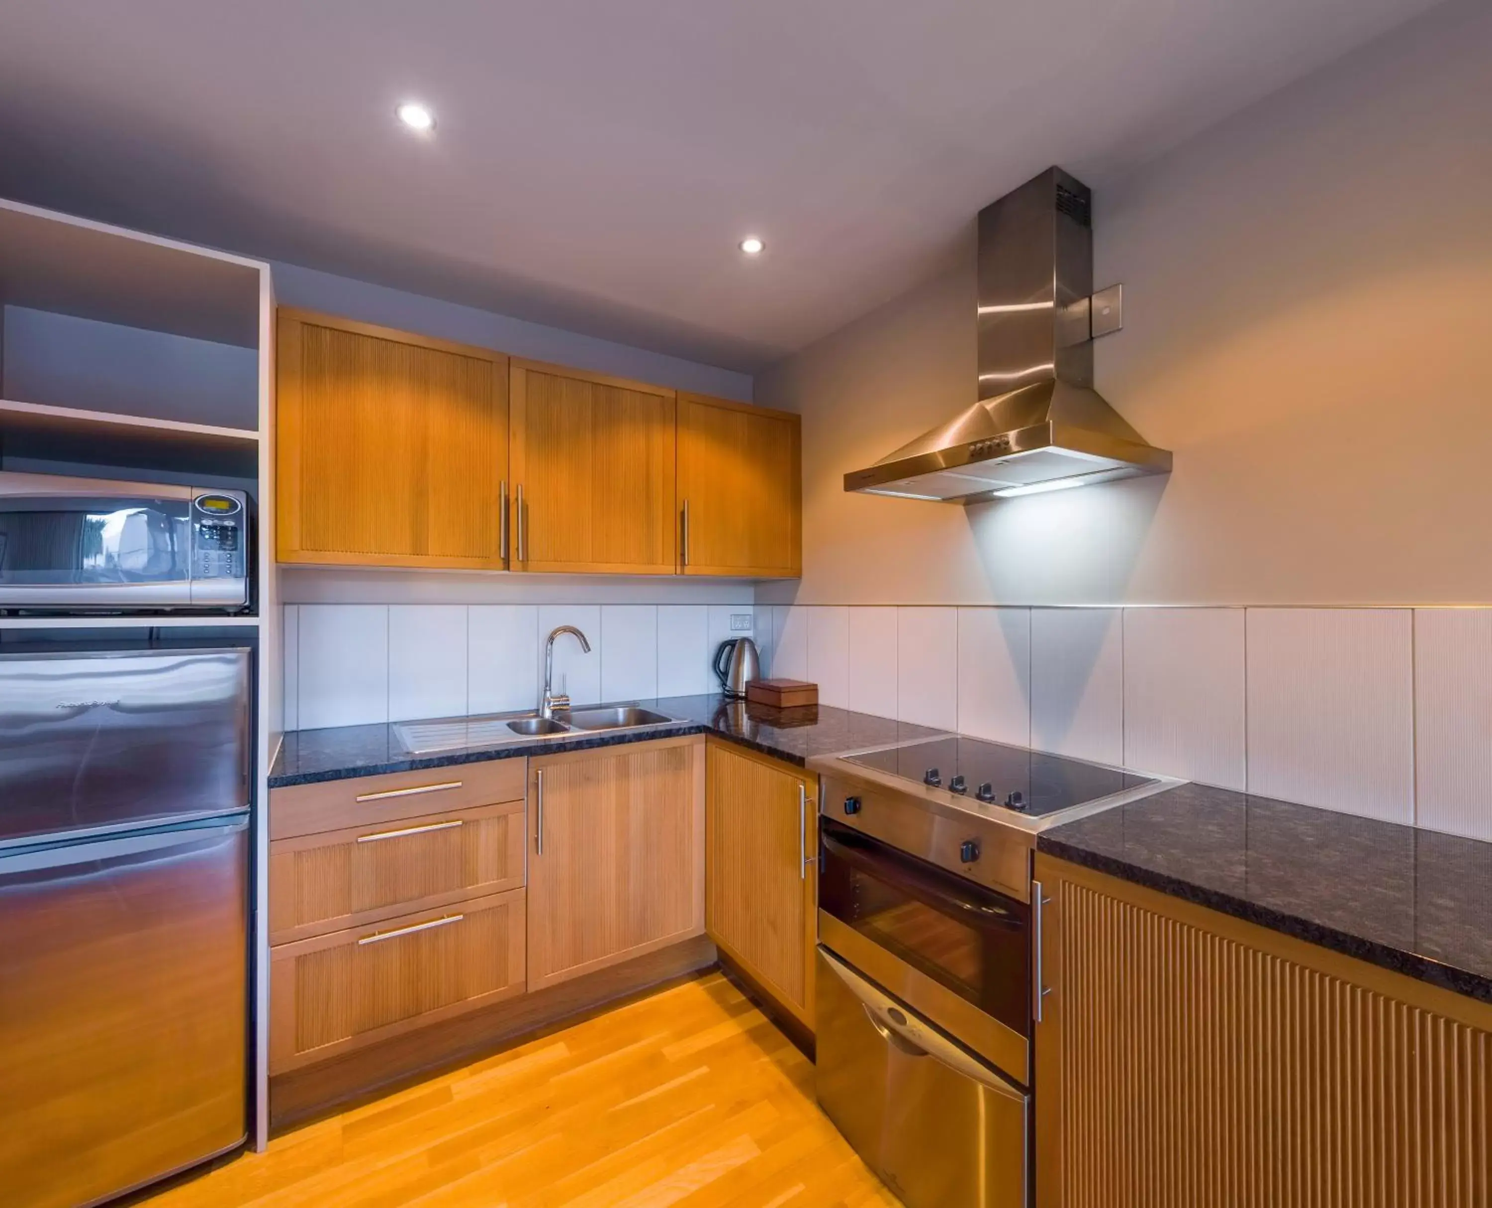
<svg viewBox="0 0 1492 1208">
<path fill-rule="evenodd" d="M 0 610 L 249 607 L 242 491 L 0 471 Z"/>
</svg>

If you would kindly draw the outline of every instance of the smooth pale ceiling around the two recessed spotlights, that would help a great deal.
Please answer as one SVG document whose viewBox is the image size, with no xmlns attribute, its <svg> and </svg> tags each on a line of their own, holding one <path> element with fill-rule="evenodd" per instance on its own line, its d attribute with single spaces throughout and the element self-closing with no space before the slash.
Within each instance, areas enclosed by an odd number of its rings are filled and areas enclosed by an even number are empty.
<svg viewBox="0 0 1492 1208">
<path fill-rule="evenodd" d="M 1434 3 L 0 0 L 0 195 L 755 370 Z"/>
</svg>

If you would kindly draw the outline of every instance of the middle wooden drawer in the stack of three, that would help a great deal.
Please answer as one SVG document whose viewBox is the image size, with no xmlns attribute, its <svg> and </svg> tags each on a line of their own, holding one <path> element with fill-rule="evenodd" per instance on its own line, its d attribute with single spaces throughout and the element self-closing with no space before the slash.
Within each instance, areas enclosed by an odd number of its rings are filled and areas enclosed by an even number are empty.
<svg viewBox="0 0 1492 1208">
<path fill-rule="evenodd" d="M 270 943 L 518 889 L 525 834 L 524 802 L 501 801 L 275 840 Z"/>
</svg>

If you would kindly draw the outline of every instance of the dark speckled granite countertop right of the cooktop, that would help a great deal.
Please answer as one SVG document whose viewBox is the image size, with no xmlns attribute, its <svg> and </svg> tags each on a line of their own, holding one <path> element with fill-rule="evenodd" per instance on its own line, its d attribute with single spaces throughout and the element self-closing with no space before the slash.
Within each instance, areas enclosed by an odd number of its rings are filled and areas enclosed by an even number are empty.
<svg viewBox="0 0 1492 1208">
<path fill-rule="evenodd" d="M 1183 784 L 1037 850 L 1492 1002 L 1492 843 Z"/>
</svg>

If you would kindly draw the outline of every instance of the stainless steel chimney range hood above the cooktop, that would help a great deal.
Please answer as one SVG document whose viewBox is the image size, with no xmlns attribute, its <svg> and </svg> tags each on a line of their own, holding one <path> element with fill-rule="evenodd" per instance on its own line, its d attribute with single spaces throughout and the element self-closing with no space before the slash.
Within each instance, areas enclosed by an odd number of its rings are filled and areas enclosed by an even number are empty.
<svg viewBox="0 0 1492 1208">
<path fill-rule="evenodd" d="M 846 491 L 971 504 L 1170 471 L 1094 389 L 1094 336 L 1118 330 L 1119 297 L 1094 304 L 1091 213 L 1055 167 L 980 210 L 979 401 Z"/>
</svg>

